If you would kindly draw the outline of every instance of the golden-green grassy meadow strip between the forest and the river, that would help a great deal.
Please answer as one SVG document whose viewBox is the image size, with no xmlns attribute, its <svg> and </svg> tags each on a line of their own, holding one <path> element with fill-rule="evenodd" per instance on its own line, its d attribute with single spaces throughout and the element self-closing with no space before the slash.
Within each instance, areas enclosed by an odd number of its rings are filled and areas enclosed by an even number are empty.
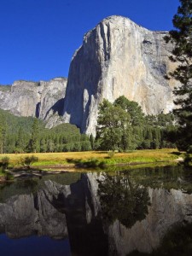
<svg viewBox="0 0 192 256">
<path fill-rule="evenodd" d="M 85 166 L 89 164 L 118 165 L 132 163 L 155 163 L 160 161 L 177 160 L 181 154 L 175 148 L 135 150 L 126 153 L 113 153 L 104 151 L 88 152 L 61 152 L 61 153 L 37 153 L 37 154 L 0 154 L 0 161 L 5 156 L 9 157 L 9 166 L 20 166 L 21 160 L 34 155 L 38 161 L 32 166 Z"/>
</svg>

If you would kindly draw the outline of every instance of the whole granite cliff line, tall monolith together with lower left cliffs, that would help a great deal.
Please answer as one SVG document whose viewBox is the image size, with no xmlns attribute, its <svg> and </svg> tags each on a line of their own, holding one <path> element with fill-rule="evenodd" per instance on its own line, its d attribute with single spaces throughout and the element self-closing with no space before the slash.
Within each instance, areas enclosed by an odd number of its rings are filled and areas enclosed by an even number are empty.
<svg viewBox="0 0 192 256">
<path fill-rule="evenodd" d="M 11 91 L 0 88 L 0 108 L 44 119 L 48 127 L 71 123 L 93 135 L 103 98 L 113 102 L 124 95 L 144 113 L 168 113 L 174 108 L 172 90 L 179 84 L 165 79 L 177 65 L 169 60 L 173 45 L 164 41 L 166 34 L 110 16 L 84 35 L 68 79 L 16 81 Z"/>
</svg>

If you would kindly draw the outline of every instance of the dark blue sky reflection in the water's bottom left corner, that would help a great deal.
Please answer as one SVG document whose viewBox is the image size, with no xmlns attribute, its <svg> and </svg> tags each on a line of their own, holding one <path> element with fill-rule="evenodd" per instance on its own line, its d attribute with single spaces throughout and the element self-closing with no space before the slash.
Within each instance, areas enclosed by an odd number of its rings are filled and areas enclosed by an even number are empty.
<svg viewBox="0 0 192 256">
<path fill-rule="evenodd" d="M 10 239 L 0 235 L 0 254 L 6 256 L 69 256 L 71 255 L 68 239 L 52 240 L 46 236 L 30 236 Z"/>
</svg>

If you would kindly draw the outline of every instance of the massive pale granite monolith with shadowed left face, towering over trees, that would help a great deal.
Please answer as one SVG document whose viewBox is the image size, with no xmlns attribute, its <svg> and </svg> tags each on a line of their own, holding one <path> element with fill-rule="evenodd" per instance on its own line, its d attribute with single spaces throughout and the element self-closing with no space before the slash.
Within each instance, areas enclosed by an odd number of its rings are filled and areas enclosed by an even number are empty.
<svg viewBox="0 0 192 256">
<path fill-rule="evenodd" d="M 164 78 L 175 65 L 168 58 L 172 44 L 165 43 L 166 33 L 148 31 L 121 16 L 108 17 L 86 33 L 69 70 L 65 122 L 95 134 L 99 103 L 123 95 L 138 102 L 144 113 L 172 110 L 177 83 Z"/>
</svg>

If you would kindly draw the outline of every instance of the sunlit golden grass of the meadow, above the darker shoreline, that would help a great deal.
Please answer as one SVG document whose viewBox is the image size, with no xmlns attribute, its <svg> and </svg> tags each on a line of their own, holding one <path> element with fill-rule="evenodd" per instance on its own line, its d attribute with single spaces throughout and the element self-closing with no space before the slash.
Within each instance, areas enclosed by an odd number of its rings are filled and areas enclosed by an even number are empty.
<svg viewBox="0 0 192 256">
<path fill-rule="evenodd" d="M 175 153 L 175 154 L 174 154 Z M 108 157 L 108 152 L 88 151 L 88 152 L 61 152 L 61 153 L 33 153 L 33 154 L 0 154 L 0 160 L 8 156 L 11 165 L 17 165 L 20 158 L 35 155 L 38 162 L 34 165 L 68 165 L 67 160 L 90 160 L 97 159 L 105 161 L 106 164 L 131 163 L 131 162 L 157 162 L 169 161 L 178 158 L 177 149 L 155 149 L 136 150 L 128 153 L 115 153 L 112 158 Z"/>
</svg>

